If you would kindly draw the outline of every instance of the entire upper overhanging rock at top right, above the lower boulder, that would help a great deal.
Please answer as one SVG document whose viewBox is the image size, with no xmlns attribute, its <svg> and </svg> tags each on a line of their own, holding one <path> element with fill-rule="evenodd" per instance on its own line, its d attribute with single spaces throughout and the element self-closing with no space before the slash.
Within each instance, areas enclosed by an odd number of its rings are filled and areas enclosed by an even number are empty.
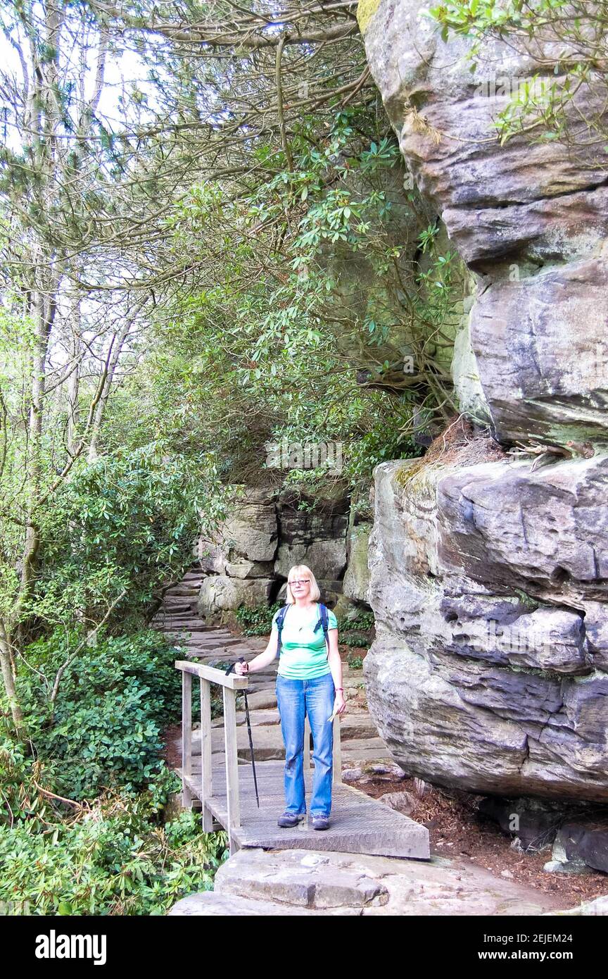
<svg viewBox="0 0 608 979">
<path fill-rule="evenodd" d="M 494 120 L 542 61 L 487 40 L 471 72 L 468 42 L 444 42 L 426 6 L 379 0 L 360 5 L 360 20 L 406 163 L 476 274 L 454 361 L 462 407 L 487 405 L 505 440 L 606 439 L 608 189 L 584 132 L 601 85 L 577 94 L 576 153 L 525 136 L 500 145 Z"/>
</svg>

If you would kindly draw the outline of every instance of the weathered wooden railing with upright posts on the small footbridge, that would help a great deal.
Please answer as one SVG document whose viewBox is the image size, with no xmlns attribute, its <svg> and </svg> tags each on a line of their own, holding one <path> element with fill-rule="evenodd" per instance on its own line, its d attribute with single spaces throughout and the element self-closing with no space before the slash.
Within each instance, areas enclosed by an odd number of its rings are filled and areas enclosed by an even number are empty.
<svg viewBox="0 0 608 979">
<path fill-rule="evenodd" d="M 228 812 L 228 831 L 230 849 L 237 847 L 234 832 L 240 827 L 239 801 L 239 749 L 237 742 L 237 693 L 249 685 L 247 676 L 226 675 L 223 670 L 203 666 L 189 660 L 178 660 L 176 670 L 182 672 L 182 805 L 192 808 L 193 794 L 202 806 L 202 829 L 210 833 L 213 829 L 214 815 L 210 808 L 213 799 L 211 768 L 211 683 L 222 687 L 224 699 L 224 753 L 226 762 L 226 809 Z M 200 794 L 193 779 L 193 676 L 198 677 L 200 686 Z M 255 747 L 255 745 L 254 745 Z M 304 769 L 310 769 L 310 726 L 308 718 L 304 723 Z M 340 747 L 339 718 L 333 720 L 333 766 L 334 784 L 342 781 L 342 758 Z M 223 808 L 223 807 L 222 807 Z"/>
</svg>

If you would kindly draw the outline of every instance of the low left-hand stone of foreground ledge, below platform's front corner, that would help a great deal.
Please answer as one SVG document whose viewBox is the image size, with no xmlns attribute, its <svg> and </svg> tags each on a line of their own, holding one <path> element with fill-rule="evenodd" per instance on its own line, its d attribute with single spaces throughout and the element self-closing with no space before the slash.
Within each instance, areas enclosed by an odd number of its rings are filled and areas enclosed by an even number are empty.
<svg viewBox="0 0 608 979">
<path fill-rule="evenodd" d="M 307 909 L 363 909 L 388 903 L 381 879 L 357 863 L 332 866 L 315 852 L 275 855 L 247 848 L 220 866 L 214 893 Z"/>
</svg>

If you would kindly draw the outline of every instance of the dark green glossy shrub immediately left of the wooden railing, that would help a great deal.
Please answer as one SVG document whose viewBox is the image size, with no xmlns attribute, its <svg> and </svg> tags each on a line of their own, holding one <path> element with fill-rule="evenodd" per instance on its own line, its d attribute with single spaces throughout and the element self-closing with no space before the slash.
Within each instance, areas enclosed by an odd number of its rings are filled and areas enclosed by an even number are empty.
<svg viewBox="0 0 608 979">
<path fill-rule="evenodd" d="M 21 684 L 36 751 L 68 798 L 142 786 L 159 768 L 162 726 L 180 717 L 175 653 L 152 630 L 102 639 L 69 664 L 53 706 L 45 685 L 52 687 L 78 638 L 55 633 L 26 650 L 27 661 L 46 677 L 44 684 L 29 674 Z"/>
</svg>

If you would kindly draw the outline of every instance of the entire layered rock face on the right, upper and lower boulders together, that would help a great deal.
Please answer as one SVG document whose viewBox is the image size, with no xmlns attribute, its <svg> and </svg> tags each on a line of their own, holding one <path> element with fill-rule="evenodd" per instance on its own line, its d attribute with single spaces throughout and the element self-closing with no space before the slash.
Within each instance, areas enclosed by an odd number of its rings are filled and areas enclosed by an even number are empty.
<svg viewBox="0 0 608 979">
<path fill-rule="evenodd" d="M 406 162 L 476 282 L 461 408 L 506 445 L 571 458 L 377 468 L 369 709 L 430 781 L 608 801 L 608 175 L 584 147 L 500 146 L 496 82 L 538 66 L 494 42 L 472 74 L 424 6 L 368 3 L 362 27 Z"/>
</svg>

